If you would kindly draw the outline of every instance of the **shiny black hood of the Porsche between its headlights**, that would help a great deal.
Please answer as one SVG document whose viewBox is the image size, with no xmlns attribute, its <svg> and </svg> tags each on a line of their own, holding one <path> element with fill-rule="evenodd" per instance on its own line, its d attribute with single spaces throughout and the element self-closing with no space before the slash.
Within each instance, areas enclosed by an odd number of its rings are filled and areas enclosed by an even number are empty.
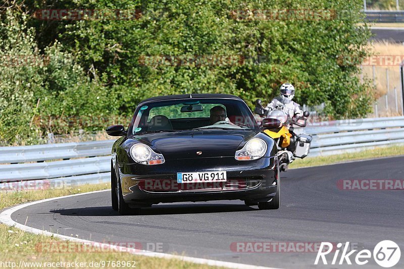
<svg viewBox="0 0 404 269">
<path fill-rule="evenodd" d="M 255 130 L 192 130 L 138 135 L 140 142 L 152 145 L 167 160 L 204 157 L 234 157 L 240 143 Z M 201 154 L 197 154 L 201 151 Z"/>
</svg>

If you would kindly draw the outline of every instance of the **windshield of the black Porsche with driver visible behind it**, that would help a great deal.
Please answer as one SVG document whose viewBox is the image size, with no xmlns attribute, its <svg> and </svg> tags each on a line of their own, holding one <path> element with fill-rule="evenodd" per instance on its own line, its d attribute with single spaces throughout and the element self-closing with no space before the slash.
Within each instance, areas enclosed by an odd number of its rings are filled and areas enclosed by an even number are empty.
<svg viewBox="0 0 404 269">
<path fill-rule="evenodd" d="M 134 134 L 199 129 L 259 128 L 241 100 L 188 98 L 149 102 L 138 107 L 130 126 Z"/>
</svg>

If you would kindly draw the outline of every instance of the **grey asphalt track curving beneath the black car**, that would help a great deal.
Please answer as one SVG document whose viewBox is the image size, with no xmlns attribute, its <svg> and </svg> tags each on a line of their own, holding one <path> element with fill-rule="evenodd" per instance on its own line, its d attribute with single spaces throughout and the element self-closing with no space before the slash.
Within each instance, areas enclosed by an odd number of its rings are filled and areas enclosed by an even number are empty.
<svg viewBox="0 0 404 269">
<path fill-rule="evenodd" d="M 12 219 L 81 239 L 143 246 L 159 242 L 167 253 L 280 268 L 357 266 L 330 265 L 334 254 L 327 256 L 328 265 L 320 266 L 314 265 L 317 252 L 245 253 L 230 246 L 233 242 L 350 241 L 373 253 L 378 242 L 393 240 L 402 254 L 393 268 L 403 268 L 404 191 L 340 190 L 336 184 L 340 179 L 402 180 L 403 164 L 400 156 L 289 170 L 282 174 L 279 210 L 258 210 L 242 201 L 184 202 L 154 205 L 141 216 L 118 216 L 106 191 L 31 205 L 16 211 Z M 350 258 L 354 264 L 355 255 Z M 360 267 L 382 268 L 373 257 Z"/>
</svg>

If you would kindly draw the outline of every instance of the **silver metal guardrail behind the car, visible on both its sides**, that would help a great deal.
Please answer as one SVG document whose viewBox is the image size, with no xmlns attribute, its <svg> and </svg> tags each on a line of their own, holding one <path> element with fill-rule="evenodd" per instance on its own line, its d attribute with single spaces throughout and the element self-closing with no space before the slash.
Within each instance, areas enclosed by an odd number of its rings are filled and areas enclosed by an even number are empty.
<svg viewBox="0 0 404 269">
<path fill-rule="evenodd" d="M 355 152 L 404 144 L 404 117 L 320 122 L 306 127 L 305 132 L 313 136 L 309 156 Z M 46 187 L 107 183 L 113 143 L 0 147 L 0 190 L 24 187 L 24 182 Z"/>
</svg>

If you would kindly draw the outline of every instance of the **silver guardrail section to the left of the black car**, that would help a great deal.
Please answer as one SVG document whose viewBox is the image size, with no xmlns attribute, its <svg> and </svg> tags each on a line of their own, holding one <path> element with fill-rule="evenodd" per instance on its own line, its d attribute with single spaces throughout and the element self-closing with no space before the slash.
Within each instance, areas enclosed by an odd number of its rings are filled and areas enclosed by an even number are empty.
<svg viewBox="0 0 404 269">
<path fill-rule="evenodd" d="M 114 141 L 0 147 L 0 190 L 109 182 Z"/>
</svg>

